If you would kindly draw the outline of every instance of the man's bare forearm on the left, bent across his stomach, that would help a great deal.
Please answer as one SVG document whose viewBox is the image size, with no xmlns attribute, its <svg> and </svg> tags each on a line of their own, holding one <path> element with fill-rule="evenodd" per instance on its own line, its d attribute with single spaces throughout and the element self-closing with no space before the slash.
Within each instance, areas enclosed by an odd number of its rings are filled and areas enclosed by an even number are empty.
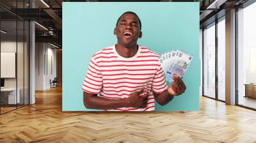
<svg viewBox="0 0 256 143">
<path fill-rule="evenodd" d="M 86 99 L 84 100 L 84 105 L 88 109 L 108 110 L 121 107 L 129 107 L 129 102 L 126 99 L 111 100 L 99 96 L 92 96 L 90 99 L 88 98 L 88 101 L 86 101 Z"/>
</svg>

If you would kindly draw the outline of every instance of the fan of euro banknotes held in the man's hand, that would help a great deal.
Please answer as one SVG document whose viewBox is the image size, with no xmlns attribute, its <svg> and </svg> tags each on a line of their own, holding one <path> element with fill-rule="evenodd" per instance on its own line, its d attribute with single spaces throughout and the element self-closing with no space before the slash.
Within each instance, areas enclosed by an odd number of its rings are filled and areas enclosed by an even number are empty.
<svg viewBox="0 0 256 143">
<path fill-rule="evenodd" d="M 172 50 L 161 54 L 159 61 L 163 67 L 166 80 L 173 82 L 172 75 L 183 77 L 192 59 L 193 55 L 182 50 Z"/>
</svg>

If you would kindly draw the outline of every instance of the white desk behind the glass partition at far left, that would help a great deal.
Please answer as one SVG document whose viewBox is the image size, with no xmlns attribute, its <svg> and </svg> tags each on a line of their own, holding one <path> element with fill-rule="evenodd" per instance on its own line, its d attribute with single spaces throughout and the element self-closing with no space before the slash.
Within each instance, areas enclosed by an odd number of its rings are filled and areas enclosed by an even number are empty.
<svg viewBox="0 0 256 143">
<path fill-rule="evenodd" d="M 18 88 L 17 91 L 18 94 L 16 98 L 16 88 L 1 89 L 1 100 L 6 104 L 16 104 L 16 101 L 20 103 L 20 89 Z"/>
</svg>

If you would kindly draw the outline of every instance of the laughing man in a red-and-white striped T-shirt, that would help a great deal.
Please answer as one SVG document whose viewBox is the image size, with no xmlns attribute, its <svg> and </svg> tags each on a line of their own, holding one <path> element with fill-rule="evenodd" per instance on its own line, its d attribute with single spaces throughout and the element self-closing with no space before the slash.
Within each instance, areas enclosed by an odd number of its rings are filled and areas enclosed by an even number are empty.
<svg viewBox="0 0 256 143">
<path fill-rule="evenodd" d="M 116 45 L 92 56 L 83 84 L 84 106 L 109 111 L 152 111 L 154 100 L 165 105 L 186 86 L 173 76 L 168 88 L 159 55 L 138 46 L 141 21 L 131 11 L 123 13 L 114 30 Z M 97 96 L 100 94 L 100 96 Z"/>
</svg>

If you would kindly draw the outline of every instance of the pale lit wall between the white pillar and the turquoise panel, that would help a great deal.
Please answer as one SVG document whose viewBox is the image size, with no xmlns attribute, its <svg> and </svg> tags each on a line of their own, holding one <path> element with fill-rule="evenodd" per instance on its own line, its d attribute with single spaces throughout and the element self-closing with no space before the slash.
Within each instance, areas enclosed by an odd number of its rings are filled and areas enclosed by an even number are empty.
<svg viewBox="0 0 256 143">
<path fill-rule="evenodd" d="M 50 79 L 56 77 L 56 49 L 49 43 L 36 43 L 35 89 L 51 88 Z"/>
</svg>

